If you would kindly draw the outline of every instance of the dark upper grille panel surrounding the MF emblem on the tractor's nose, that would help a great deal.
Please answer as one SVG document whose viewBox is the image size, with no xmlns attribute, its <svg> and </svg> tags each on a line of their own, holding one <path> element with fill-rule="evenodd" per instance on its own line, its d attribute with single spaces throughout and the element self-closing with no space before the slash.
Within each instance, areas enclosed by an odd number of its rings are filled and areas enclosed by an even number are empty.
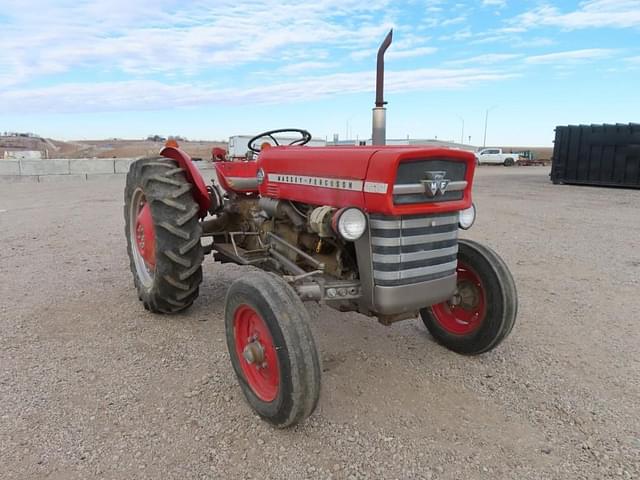
<svg viewBox="0 0 640 480">
<path fill-rule="evenodd" d="M 426 172 L 444 172 L 449 186 L 444 195 L 428 197 L 425 195 L 421 180 Z M 448 202 L 461 200 L 467 186 L 465 176 L 467 164 L 455 160 L 428 159 L 403 162 L 398 166 L 396 183 L 393 186 L 393 203 L 408 205 L 412 203 Z"/>
</svg>

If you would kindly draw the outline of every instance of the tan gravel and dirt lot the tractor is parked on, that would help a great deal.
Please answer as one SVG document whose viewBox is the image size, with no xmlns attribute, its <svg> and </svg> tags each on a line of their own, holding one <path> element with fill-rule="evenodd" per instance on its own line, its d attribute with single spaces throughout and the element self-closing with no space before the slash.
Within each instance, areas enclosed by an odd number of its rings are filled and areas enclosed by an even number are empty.
<svg viewBox="0 0 640 480">
<path fill-rule="evenodd" d="M 274 430 L 244 403 L 207 259 L 201 298 L 154 316 L 132 289 L 122 182 L 0 191 L 0 477 L 640 477 L 640 191 L 481 168 L 468 236 L 511 266 L 520 315 L 466 358 L 417 320 L 309 305 L 323 390 Z"/>
</svg>

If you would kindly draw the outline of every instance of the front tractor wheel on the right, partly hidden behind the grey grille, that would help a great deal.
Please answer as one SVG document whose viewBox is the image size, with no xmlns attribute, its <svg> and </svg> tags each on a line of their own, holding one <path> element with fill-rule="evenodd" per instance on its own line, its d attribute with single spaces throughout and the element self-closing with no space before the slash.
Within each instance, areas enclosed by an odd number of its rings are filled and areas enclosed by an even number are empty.
<svg viewBox="0 0 640 480">
<path fill-rule="evenodd" d="M 498 346 L 511 332 L 518 294 L 504 261 L 488 247 L 460 240 L 458 286 L 446 302 L 423 308 L 420 316 L 438 343 L 476 355 Z"/>
</svg>

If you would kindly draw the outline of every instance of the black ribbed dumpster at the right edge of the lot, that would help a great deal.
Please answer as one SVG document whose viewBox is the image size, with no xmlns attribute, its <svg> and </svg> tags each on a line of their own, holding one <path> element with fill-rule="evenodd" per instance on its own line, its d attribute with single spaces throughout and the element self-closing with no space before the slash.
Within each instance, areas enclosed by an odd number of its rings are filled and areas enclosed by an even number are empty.
<svg viewBox="0 0 640 480">
<path fill-rule="evenodd" d="M 640 124 L 556 127 L 551 181 L 640 188 Z"/>
</svg>

